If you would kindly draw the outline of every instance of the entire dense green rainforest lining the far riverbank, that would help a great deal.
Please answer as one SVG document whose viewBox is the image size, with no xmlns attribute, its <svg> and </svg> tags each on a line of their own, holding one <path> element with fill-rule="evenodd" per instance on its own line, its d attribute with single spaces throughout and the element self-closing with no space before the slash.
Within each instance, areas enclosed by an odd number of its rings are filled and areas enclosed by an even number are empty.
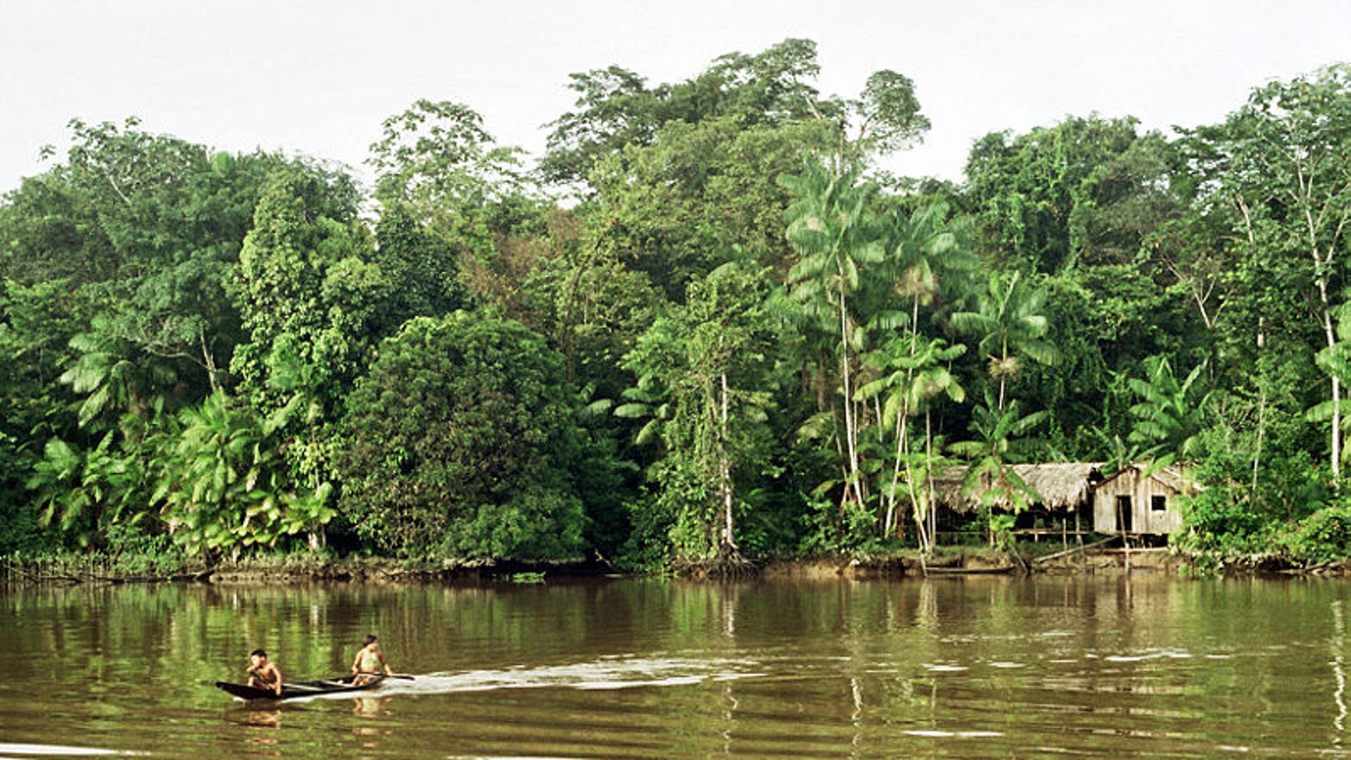
<svg viewBox="0 0 1351 760">
<path fill-rule="evenodd" d="M 369 183 L 72 122 L 0 203 L 0 553 L 931 552 L 943 468 L 1019 511 L 1016 462 L 1151 461 L 1178 545 L 1351 554 L 1351 66 L 961 184 L 881 169 L 909 78 L 817 73 L 577 73 L 538 161 L 419 100 Z"/>
</svg>

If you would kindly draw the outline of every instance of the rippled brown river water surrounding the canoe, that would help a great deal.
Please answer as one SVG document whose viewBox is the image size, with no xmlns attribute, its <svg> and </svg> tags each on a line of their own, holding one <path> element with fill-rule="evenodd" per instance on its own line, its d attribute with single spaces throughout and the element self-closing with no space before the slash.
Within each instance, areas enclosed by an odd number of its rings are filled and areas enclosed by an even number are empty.
<svg viewBox="0 0 1351 760">
<path fill-rule="evenodd" d="M 1347 757 L 1340 580 L 0 591 L 0 757 Z M 247 703 L 393 668 L 361 698 Z"/>
</svg>

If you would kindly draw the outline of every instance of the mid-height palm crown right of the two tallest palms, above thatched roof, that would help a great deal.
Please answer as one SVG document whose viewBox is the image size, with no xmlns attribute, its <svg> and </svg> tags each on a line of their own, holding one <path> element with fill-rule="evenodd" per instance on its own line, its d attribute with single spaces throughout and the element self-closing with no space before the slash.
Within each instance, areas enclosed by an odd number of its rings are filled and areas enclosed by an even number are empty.
<svg viewBox="0 0 1351 760">
<path fill-rule="evenodd" d="M 1048 323 L 1042 311 L 1046 292 L 1027 287 L 1019 272 L 1005 281 L 990 273 L 988 288 L 975 295 L 975 311 L 952 315 L 952 326 L 981 337 L 978 350 L 989 361 L 992 377 L 1000 381 L 998 408 L 1004 408 L 1004 389 L 1009 377 L 1021 369 L 1017 354 L 1027 354 L 1039 364 L 1056 364 L 1061 352 L 1044 341 Z"/>
</svg>

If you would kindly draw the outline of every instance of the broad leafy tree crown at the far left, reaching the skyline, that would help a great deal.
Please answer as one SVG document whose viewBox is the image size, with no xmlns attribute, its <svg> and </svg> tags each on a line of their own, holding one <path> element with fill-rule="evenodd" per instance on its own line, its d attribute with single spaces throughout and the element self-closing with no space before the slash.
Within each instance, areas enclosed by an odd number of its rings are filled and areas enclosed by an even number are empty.
<svg viewBox="0 0 1351 760">
<path fill-rule="evenodd" d="M 285 161 L 213 154 L 135 119 L 73 120 L 72 133 L 66 161 L 0 210 L 0 268 L 20 283 L 66 279 L 99 303 L 101 341 L 168 365 L 192 389 L 184 400 L 199 400 L 239 339 L 226 281 L 266 176 Z"/>
</svg>

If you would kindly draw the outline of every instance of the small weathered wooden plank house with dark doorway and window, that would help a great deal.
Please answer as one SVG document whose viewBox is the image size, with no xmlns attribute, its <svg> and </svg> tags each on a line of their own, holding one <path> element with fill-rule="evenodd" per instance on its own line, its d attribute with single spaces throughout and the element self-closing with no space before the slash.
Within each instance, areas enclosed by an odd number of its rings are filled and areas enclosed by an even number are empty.
<svg viewBox="0 0 1351 760">
<path fill-rule="evenodd" d="M 1093 487 L 1093 530 L 1166 536 L 1182 526 L 1177 498 L 1196 494 L 1196 485 L 1177 468 L 1146 472 L 1132 464 Z"/>
</svg>

